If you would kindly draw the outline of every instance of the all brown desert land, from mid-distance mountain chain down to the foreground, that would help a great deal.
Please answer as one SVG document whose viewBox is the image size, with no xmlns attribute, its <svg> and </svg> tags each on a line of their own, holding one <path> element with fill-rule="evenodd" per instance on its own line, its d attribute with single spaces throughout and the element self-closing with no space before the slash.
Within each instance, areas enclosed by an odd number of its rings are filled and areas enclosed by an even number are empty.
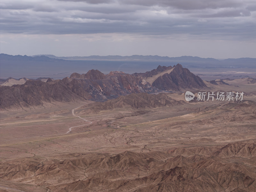
<svg viewBox="0 0 256 192">
<path fill-rule="evenodd" d="M 14 81 L 0 86 L 0 191 L 256 191 L 253 78 L 203 81 L 177 64 Z"/>
</svg>

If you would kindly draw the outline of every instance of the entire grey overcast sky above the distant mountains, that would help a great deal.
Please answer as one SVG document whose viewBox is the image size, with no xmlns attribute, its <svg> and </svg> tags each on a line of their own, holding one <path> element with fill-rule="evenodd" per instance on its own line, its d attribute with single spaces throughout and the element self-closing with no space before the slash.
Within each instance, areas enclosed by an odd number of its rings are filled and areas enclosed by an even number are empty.
<svg viewBox="0 0 256 192">
<path fill-rule="evenodd" d="M 256 0 L 1 0 L 12 55 L 256 57 Z"/>
</svg>

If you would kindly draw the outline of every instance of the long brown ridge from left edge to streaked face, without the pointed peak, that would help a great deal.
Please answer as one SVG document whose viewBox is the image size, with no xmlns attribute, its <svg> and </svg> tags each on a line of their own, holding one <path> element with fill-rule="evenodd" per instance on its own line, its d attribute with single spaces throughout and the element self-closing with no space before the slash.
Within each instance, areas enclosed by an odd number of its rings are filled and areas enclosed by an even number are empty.
<svg viewBox="0 0 256 192">
<path fill-rule="evenodd" d="M 40 106 L 44 102 L 74 100 L 106 100 L 120 95 L 155 92 L 142 77 L 123 72 L 104 75 L 99 70 L 86 74 L 73 73 L 70 78 L 54 81 L 28 80 L 22 85 L 0 86 L 0 108 Z"/>
</svg>

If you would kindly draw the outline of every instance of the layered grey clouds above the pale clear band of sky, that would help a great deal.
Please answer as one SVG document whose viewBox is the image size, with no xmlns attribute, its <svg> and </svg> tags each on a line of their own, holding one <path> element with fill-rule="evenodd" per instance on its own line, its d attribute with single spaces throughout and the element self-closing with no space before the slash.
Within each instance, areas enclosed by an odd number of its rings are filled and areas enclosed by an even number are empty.
<svg viewBox="0 0 256 192">
<path fill-rule="evenodd" d="M 255 39 L 255 0 L 2 0 L 1 33 Z"/>
</svg>

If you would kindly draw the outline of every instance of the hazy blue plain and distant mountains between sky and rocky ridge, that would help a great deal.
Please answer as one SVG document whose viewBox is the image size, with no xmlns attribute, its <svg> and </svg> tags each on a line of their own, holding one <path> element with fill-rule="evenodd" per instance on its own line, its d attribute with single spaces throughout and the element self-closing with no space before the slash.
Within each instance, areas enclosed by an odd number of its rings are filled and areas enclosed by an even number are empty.
<svg viewBox="0 0 256 192">
<path fill-rule="evenodd" d="M 1 53 L 0 62 L 0 78 L 2 79 L 8 77 L 62 79 L 73 72 L 81 74 L 90 69 L 98 69 L 104 74 L 110 71 L 139 74 L 152 69 L 158 70 L 159 65 L 173 66 L 177 63 L 208 81 L 216 79 L 216 76 L 223 79 L 256 77 L 256 58 L 217 60 L 192 56 L 161 57 L 157 55 L 56 57 L 54 55 L 13 56 Z M 151 75 L 154 73 L 153 71 Z"/>
</svg>

